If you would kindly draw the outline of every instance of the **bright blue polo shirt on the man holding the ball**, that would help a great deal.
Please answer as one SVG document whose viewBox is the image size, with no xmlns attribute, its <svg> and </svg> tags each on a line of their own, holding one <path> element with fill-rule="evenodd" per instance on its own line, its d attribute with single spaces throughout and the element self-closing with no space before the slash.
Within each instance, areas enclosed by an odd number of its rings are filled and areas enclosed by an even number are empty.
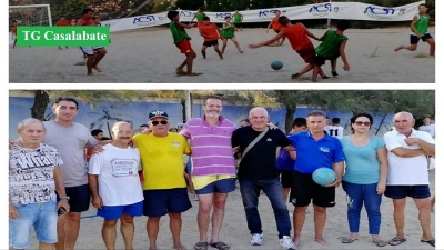
<svg viewBox="0 0 444 250">
<path fill-rule="evenodd" d="M 341 141 L 329 136 L 314 140 L 310 131 L 292 134 L 289 139 L 296 148 L 296 162 L 294 170 L 305 174 L 312 174 L 319 168 L 331 168 L 333 163 L 344 161 Z"/>
</svg>

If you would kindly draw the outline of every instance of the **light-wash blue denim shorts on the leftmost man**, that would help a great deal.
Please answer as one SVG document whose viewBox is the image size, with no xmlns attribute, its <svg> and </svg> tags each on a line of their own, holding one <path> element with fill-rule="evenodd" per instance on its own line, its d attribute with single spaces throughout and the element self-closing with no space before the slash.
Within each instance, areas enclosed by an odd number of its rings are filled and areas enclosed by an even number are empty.
<svg viewBox="0 0 444 250">
<path fill-rule="evenodd" d="M 43 243 L 57 242 L 57 201 L 32 204 L 14 204 L 17 219 L 9 219 L 9 246 L 26 249 L 31 246 L 30 232 L 34 228 L 37 240 Z"/>
</svg>

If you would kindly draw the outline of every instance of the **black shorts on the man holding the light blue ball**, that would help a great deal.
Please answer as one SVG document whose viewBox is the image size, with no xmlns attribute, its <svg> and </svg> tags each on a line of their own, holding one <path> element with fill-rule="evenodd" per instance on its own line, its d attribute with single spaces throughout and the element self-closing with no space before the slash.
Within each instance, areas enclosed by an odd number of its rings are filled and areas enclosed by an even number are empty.
<svg viewBox="0 0 444 250">
<path fill-rule="evenodd" d="M 294 171 L 293 186 L 290 193 L 290 202 L 294 207 L 306 207 L 313 199 L 313 204 L 331 208 L 336 204 L 334 201 L 335 196 L 335 187 L 322 187 L 313 181 L 312 174 Z"/>
</svg>

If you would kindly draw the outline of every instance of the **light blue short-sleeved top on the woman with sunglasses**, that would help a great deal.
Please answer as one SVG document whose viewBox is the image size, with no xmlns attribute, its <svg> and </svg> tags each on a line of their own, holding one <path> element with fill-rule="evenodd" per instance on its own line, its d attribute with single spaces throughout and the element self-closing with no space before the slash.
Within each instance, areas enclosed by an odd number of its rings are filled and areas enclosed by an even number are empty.
<svg viewBox="0 0 444 250">
<path fill-rule="evenodd" d="M 355 184 L 373 184 L 380 181 L 381 166 L 377 150 L 384 147 L 384 140 L 372 136 L 366 146 L 354 146 L 350 136 L 343 137 L 341 143 L 345 154 L 344 181 Z"/>
</svg>

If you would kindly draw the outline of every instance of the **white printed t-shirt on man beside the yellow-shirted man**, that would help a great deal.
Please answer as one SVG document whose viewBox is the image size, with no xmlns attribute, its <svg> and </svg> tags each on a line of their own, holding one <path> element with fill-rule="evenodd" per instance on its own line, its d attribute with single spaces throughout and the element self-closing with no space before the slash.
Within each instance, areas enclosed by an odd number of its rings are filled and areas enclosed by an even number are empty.
<svg viewBox="0 0 444 250">
<path fill-rule="evenodd" d="M 92 154 L 88 171 L 99 176 L 99 196 L 103 204 L 124 206 L 142 201 L 139 150 L 131 147 L 120 149 L 112 144 L 103 146 L 103 150 Z"/>
</svg>

